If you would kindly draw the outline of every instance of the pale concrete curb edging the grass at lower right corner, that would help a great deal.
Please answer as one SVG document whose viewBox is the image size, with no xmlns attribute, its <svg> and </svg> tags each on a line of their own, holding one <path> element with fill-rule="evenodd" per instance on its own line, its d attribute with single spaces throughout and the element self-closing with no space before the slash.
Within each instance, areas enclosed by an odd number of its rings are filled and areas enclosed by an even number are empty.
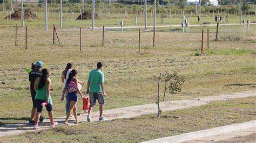
<svg viewBox="0 0 256 143">
<path fill-rule="evenodd" d="M 174 135 L 171 137 L 154 139 L 154 140 L 149 140 L 149 141 L 145 141 L 145 142 L 183 142 L 183 141 L 187 141 L 187 140 L 208 137 L 210 135 L 217 135 L 217 134 L 222 134 L 222 133 L 238 131 L 238 130 L 242 130 L 245 128 L 251 128 L 251 127 L 256 127 L 256 120 L 247 121 L 245 123 L 240 123 L 240 124 L 215 127 L 215 128 L 211 128 L 208 130 L 201 130 L 201 131 L 196 131 L 196 132 L 179 134 L 179 135 Z"/>
</svg>

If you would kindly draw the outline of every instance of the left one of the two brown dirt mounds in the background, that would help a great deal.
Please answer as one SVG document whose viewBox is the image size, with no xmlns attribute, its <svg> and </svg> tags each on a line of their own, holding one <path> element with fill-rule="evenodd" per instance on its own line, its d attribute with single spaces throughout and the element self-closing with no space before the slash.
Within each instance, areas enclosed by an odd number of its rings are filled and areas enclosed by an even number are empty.
<svg viewBox="0 0 256 143">
<path fill-rule="evenodd" d="M 10 17 L 10 15 L 8 17 Z M 24 10 L 24 19 L 36 19 L 36 18 L 38 17 L 36 16 L 35 13 L 32 12 L 31 9 Z M 14 13 L 11 13 L 11 19 L 14 19 L 14 20 L 21 19 L 21 9 L 15 10 Z"/>
</svg>

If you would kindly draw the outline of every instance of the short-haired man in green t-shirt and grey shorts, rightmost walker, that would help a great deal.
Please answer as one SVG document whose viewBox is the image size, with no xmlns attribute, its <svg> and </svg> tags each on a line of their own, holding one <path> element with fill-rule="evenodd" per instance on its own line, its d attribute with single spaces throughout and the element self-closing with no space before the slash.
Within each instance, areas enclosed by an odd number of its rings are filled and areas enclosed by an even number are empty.
<svg viewBox="0 0 256 143">
<path fill-rule="evenodd" d="M 103 69 L 103 63 L 97 63 L 97 69 L 91 70 L 88 82 L 87 82 L 87 94 L 90 94 L 90 108 L 88 111 L 87 121 L 91 122 L 91 111 L 92 107 L 96 104 L 96 99 L 99 103 L 99 121 L 107 120 L 103 115 L 103 105 L 105 103 L 106 96 L 104 91 L 104 73 L 101 71 Z"/>
</svg>

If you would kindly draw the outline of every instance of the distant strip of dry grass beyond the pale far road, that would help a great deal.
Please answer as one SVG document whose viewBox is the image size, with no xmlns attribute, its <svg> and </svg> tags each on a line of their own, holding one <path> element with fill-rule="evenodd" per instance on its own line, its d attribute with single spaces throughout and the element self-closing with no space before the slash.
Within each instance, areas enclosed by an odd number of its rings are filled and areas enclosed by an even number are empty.
<svg viewBox="0 0 256 143">
<path fill-rule="evenodd" d="M 37 12 L 37 16 L 39 19 L 37 20 L 25 20 L 24 24 L 25 26 L 28 26 L 30 28 L 44 28 L 44 12 Z M 75 20 L 80 13 L 75 13 L 74 17 L 70 17 L 70 13 L 65 13 L 63 12 L 63 27 L 62 28 L 78 28 L 78 27 L 83 27 L 83 28 L 89 28 L 91 27 L 91 20 Z M 201 15 L 200 22 L 198 23 L 197 17 L 194 15 L 186 14 L 186 19 L 192 24 L 203 24 L 205 22 L 210 23 L 210 24 L 215 24 L 215 15 L 218 17 L 221 15 L 221 13 L 215 13 L 214 15 Z M 226 13 L 223 13 L 221 16 L 224 19 L 224 15 Z M 163 18 L 163 24 L 161 24 L 161 15 L 157 13 L 156 17 L 156 25 L 181 25 L 181 16 L 180 14 L 177 13 L 176 16 L 174 16 L 174 13 L 172 14 L 172 17 L 166 17 L 166 13 L 164 15 L 165 17 Z M 6 17 L 6 14 L 0 12 L 0 18 Z M 144 26 L 144 16 L 139 17 L 138 16 L 138 21 L 137 25 L 135 24 L 135 15 L 123 15 L 123 22 L 124 26 Z M 250 19 L 251 23 L 256 22 L 256 16 L 255 15 L 242 15 L 241 17 L 241 23 L 243 19 Z M 120 26 L 120 22 L 122 21 L 122 16 L 118 14 L 113 15 L 111 18 L 102 18 L 102 19 L 96 19 L 95 20 L 95 26 L 96 27 L 102 27 L 102 26 Z M 239 16 L 238 15 L 230 15 L 228 17 L 228 23 L 239 23 Z M 11 28 L 12 26 L 15 26 L 17 24 L 18 26 L 21 25 L 21 20 L 9 20 L 7 21 L 6 19 L 0 20 L 0 27 L 1 28 Z M 48 13 L 48 26 L 49 29 L 52 28 L 52 25 L 55 24 L 58 28 L 60 28 L 59 25 L 59 13 L 53 12 L 52 17 L 51 13 Z M 153 25 L 153 17 L 151 13 L 147 13 L 147 25 Z"/>
</svg>

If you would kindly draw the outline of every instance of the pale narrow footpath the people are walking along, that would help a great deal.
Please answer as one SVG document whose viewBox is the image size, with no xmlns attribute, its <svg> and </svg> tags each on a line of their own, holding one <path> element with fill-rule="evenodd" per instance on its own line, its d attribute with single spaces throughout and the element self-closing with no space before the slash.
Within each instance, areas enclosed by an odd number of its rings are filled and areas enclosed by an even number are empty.
<svg viewBox="0 0 256 143">
<path fill-rule="evenodd" d="M 212 101 L 224 101 L 233 98 L 242 98 L 242 97 L 249 97 L 249 96 L 256 96 L 256 90 L 252 91 L 242 91 L 235 94 L 223 94 L 219 96 L 210 96 L 210 97 L 202 97 L 197 99 L 183 99 L 179 101 L 171 101 L 171 102 L 163 102 L 160 104 L 160 109 L 162 111 L 170 111 L 170 110 L 177 110 L 177 109 L 185 109 L 191 108 L 193 106 L 200 106 L 205 104 L 210 104 Z M 125 108 L 118 108 L 118 109 L 111 109 L 104 111 L 104 117 L 108 120 L 120 119 L 120 118 L 133 118 L 138 117 L 150 113 L 157 113 L 157 105 L 152 104 L 144 104 L 144 105 L 137 105 L 137 106 L 129 106 Z M 92 120 L 97 121 L 99 116 L 99 112 L 92 113 Z M 87 115 L 82 114 L 78 116 L 80 121 L 87 121 Z M 63 125 L 65 117 L 58 117 L 55 119 L 58 121 L 59 125 Z M 70 125 L 74 125 L 74 119 L 70 122 Z M 44 128 L 49 128 L 50 122 L 46 120 L 43 124 L 39 125 L 41 130 Z M 19 128 L 19 130 L 17 130 Z M 21 123 L 21 124 L 9 124 L 9 125 L 2 125 L 0 126 L 0 137 L 4 135 L 15 135 L 21 134 L 24 132 L 33 132 L 32 130 L 33 125 L 29 125 L 28 123 Z"/>
</svg>

